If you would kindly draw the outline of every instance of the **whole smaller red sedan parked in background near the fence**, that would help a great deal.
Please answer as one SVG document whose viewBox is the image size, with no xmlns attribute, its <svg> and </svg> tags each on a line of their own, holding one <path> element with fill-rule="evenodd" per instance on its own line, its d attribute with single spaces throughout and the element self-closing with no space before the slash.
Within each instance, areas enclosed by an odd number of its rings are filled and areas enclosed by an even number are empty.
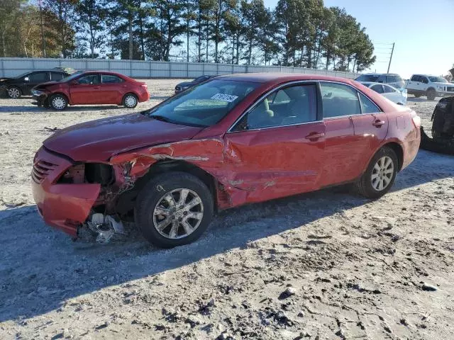
<svg viewBox="0 0 454 340">
<path fill-rule="evenodd" d="M 38 106 L 64 110 L 68 105 L 116 104 L 135 108 L 148 101 L 147 84 L 115 72 L 76 72 L 61 81 L 35 86 L 31 93 Z"/>
</svg>

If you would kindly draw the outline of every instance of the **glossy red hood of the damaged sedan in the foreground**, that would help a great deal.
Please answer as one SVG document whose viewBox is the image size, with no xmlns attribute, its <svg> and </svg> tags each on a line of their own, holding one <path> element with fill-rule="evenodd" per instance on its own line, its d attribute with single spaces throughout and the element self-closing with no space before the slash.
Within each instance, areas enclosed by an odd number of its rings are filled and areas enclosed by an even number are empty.
<svg viewBox="0 0 454 340">
<path fill-rule="evenodd" d="M 74 161 L 104 162 L 139 147 L 189 140 L 202 129 L 133 113 L 70 126 L 55 132 L 43 145 Z"/>
</svg>

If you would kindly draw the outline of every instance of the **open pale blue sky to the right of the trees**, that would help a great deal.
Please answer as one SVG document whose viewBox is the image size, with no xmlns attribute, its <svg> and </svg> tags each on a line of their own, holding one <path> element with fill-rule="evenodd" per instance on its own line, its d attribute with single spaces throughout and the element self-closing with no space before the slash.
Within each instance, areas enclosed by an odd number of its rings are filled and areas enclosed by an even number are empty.
<svg viewBox="0 0 454 340">
<path fill-rule="evenodd" d="M 277 0 L 264 0 L 275 8 Z M 448 74 L 454 64 L 454 0 L 324 0 L 345 8 L 366 28 L 375 45 L 377 62 L 364 72 Z"/>
</svg>

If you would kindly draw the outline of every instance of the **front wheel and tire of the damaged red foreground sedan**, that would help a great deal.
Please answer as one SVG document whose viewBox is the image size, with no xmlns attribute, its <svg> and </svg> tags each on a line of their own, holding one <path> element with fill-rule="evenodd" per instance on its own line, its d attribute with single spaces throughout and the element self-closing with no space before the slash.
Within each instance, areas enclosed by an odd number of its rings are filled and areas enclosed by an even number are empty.
<svg viewBox="0 0 454 340">
<path fill-rule="evenodd" d="M 140 191 L 135 224 L 148 242 L 162 248 L 199 239 L 214 213 L 209 188 L 184 172 L 157 175 Z"/>
</svg>

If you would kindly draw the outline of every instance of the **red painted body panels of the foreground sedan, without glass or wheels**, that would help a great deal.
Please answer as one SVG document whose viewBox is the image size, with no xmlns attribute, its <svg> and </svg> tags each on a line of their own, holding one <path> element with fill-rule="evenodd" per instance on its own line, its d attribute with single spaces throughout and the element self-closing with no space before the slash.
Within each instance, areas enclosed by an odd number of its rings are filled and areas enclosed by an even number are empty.
<svg viewBox="0 0 454 340">
<path fill-rule="evenodd" d="M 403 167 L 416 157 L 420 136 L 411 120 L 414 112 L 387 101 L 355 81 L 294 74 L 226 78 L 257 81 L 262 85 L 210 128 L 175 125 L 131 114 L 75 125 L 57 132 L 44 145 L 74 161 L 109 162 L 114 166 L 119 188 L 126 183 L 123 176 L 126 168 L 129 169 L 128 179 L 135 181 L 163 159 L 194 164 L 214 176 L 221 209 L 354 181 L 365 171 L 375 152 L 389 142 L 402 147 Z M 384 112 L 226 132 L 266 91 L 287 81 L 306 79 L 341 81 L 355 86 Z M 377 121 L 382 125 L 377 125 Z M 309 138 L 312 134 L 319 137 Z M 55 158 L 49 162 L 59 164 L 58 170 L 54 170 L 56 173 L 61 174 L 71 164 L 43 149 L 38 152 L 36 161 L 50 156 Z M 99 195 L 99 186 L 57 185 L 52 183 L 51 177 L 39 185 L 33 184 L 35 200 L 46 222 L 62 229 L 65 229 L 62 227 L 65 219 L 83 222 Z"/>
</svg>

